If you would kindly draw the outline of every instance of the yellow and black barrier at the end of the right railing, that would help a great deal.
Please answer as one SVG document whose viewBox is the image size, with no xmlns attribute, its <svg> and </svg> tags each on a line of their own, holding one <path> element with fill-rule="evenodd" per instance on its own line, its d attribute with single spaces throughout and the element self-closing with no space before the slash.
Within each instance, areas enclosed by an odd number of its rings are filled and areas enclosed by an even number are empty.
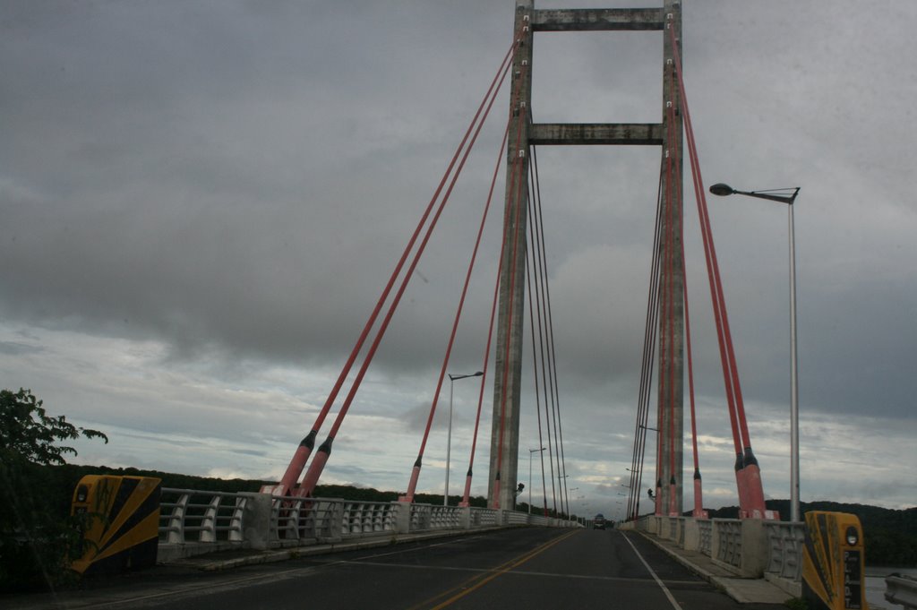
<svg viewBox="0 0 917 610">
<path fill-rule="evenodd" d="M 811 511 L 805 515 L 802 597 L 812 610 L 864 609 L 863 528 L 856 515 Z"/>
</svg>

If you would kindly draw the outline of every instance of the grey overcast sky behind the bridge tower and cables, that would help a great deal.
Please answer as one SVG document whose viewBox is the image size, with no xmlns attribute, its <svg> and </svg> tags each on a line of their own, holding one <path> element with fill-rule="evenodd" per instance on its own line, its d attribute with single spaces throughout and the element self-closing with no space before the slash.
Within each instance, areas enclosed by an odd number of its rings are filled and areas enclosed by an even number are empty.
<svg viewBox="0 0 917 610">
<path fill-rule="evenodd" d="M 801 186 L 801 498 L 917 505 L 917 4 L 683 6 L 707 185 Z M 513 13 L 512 0 L 2 3 L 0 383 L 108 434 L 74 461 L 276 480 L 509 48 Z M 536 121 L 661 120 L 661 32 L 536 34 L 534 50 Z M 323 482 L 406 488 L 507 104 L 504 90 Z M 572 505 L 620 516 L 659 151 L 542 147 L 538 161 Z M 786 498 L 787 210 L 709 205 L 765 493 Z M 450 372 L 481 368 L 498 219 Z M 734 505 L 693 197 L 685 224 L 705 505 Z M 476 397 L 474 381 L 455 384 L 453 493 Z M 444 416 L 420 491 L 443 491 Z"/>
</svg>

